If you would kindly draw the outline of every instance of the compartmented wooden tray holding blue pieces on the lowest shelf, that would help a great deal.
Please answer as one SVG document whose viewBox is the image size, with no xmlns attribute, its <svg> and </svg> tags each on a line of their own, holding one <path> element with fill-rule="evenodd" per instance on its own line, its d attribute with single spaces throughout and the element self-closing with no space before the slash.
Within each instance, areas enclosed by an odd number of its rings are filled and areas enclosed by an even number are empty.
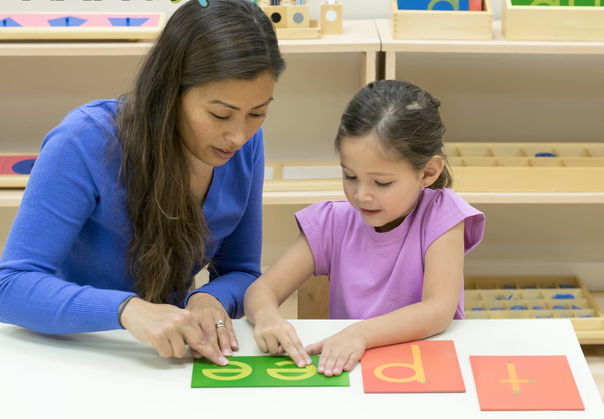
<svg viewBox="0 0 604 419">
<path fill-rule="evenodd" d="M 582 344 L 604 343 L 604 314 L 574 276 L 466 277 L 467 319 L 568 318 Z"/>
</svg>

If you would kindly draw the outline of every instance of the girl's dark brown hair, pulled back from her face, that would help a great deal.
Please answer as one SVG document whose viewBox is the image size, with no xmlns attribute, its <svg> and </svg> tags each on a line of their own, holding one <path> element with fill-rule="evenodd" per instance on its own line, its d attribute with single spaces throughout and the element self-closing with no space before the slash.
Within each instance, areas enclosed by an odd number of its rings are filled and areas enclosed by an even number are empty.
<svg viewBox="0 0 604 419">
<path fill-rule="evenodd" d="M 445 125 L 440 119 L 440 101 L 426 90 L 406 81 L 379 80 L 363 87 L 347 105 L 336 135 L 339 151 L 345 137 L 362 137 L 374 132 L 381 150 L 394 153 L 416 171 L 428 160 L 441 156 L 445 168 L 429 187 L 451 187 L 453 178 L 443 152 Z"/>
</svg>

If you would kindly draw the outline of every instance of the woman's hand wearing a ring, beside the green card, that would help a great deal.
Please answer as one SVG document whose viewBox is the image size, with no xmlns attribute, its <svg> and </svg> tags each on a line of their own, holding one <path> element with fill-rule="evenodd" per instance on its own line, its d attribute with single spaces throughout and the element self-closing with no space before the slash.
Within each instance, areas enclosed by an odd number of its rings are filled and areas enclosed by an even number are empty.
<svg viewBox="0 0 604 419">
<path fill-rule="evenodd" d="M 226 314 L 220 301 L 206 292 L 196 292 L 189 297 L 187 307 L 193 313 L 194 320 L 199 324 L 204 334 L 203 345 L 208 346 L 208 353 L 220 348 L 224 356 L 233 355 L 233 350 L 239 348 L 239 343 L 233 330 L 233 322 Z M 226 327 L 216 327 L 222 320 Z M 202 358 L 203 354 L 191 348 L 194 358 Z"/>
</svg>

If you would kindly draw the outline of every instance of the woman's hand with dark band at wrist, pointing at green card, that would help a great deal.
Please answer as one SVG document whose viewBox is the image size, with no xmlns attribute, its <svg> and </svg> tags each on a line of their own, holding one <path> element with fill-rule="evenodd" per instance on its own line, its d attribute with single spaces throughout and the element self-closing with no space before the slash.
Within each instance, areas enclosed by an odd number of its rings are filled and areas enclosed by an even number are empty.
<svg viewBox="0 0 604 419">
<path fill-rule="evenodd" d="M 199 315 L 191 310 L 132 298 L 126 303 L 120 322 L 124 329 L 132 333 L 132 336 L 154 347 L 164 358 L 170 356 L 182 358 L 187 354 L 186 344 L 188 344 L 193 354 L 204 354 L 217 365 L 228 364 L 216 344 L 214 324 L 212 324 L 214 339 L 211 339 L 211 333 L 205 333 L 198 319 Z M 225 328 L 220 327 L 220 329 Z"/>
</svg>

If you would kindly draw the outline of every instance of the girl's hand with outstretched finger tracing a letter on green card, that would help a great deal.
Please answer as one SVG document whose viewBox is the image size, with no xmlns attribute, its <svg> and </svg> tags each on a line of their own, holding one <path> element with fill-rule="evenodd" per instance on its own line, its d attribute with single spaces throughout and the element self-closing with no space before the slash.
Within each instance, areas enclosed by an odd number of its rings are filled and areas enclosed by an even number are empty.
<svg viewBox="0 0 604 419">
<path fill-rule="evenodd" d="M 289 321 L 278 312 L 255 316 L 254 339 L 264 353 L 276 355 L 286 351 L 298 367 L 312 364 L 304 345 Z"/>
</svg>

